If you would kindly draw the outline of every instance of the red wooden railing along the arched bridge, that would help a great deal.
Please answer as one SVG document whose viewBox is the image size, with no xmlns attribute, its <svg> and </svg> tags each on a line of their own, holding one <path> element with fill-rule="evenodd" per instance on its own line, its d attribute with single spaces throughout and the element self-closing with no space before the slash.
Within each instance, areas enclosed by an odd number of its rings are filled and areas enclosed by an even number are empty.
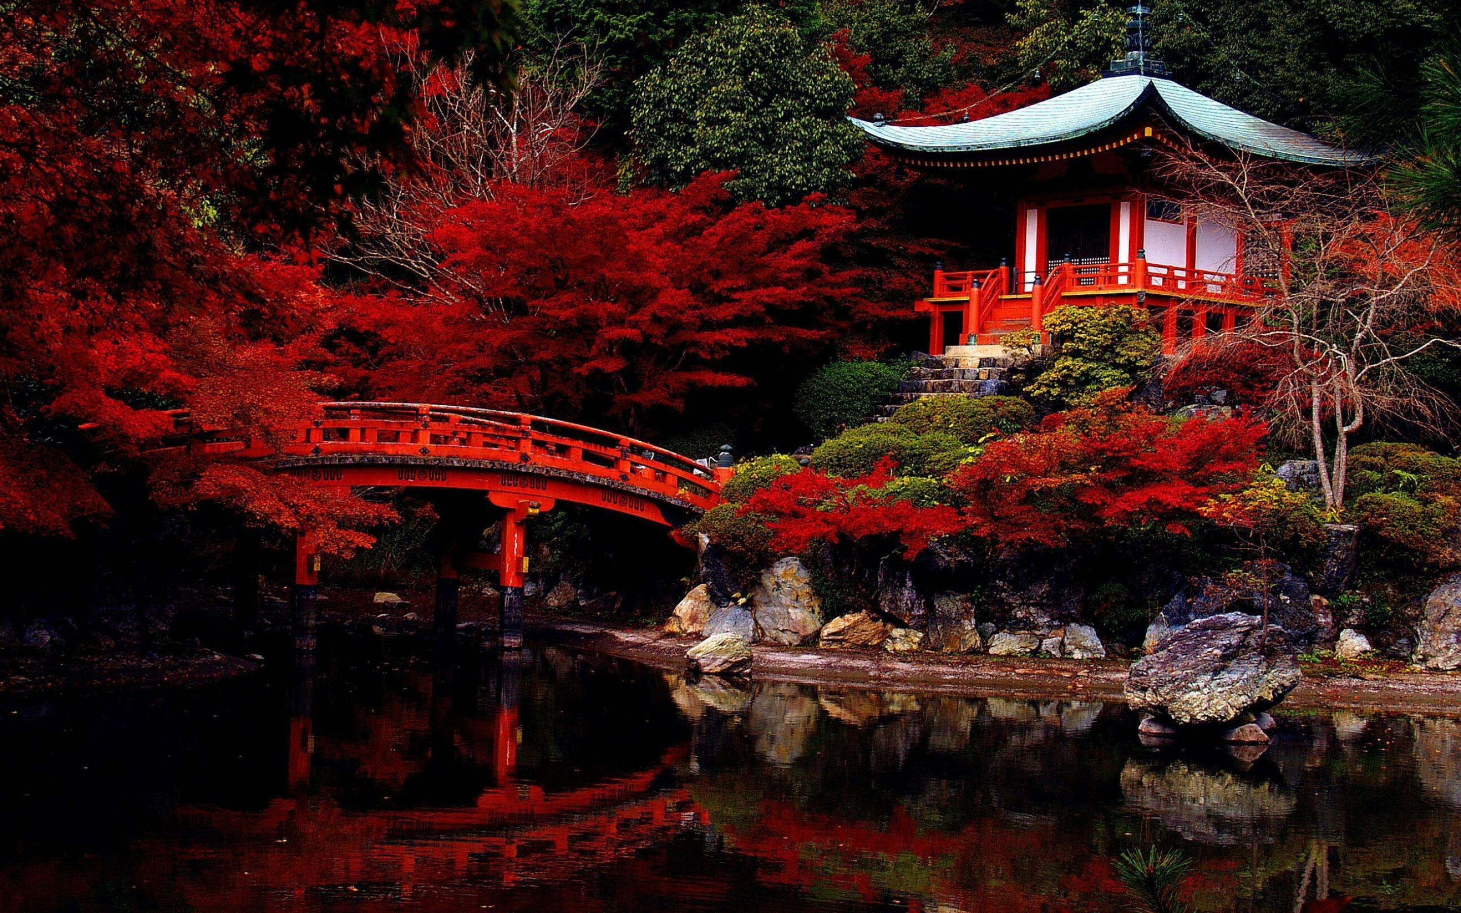
<svg viewBox="0 0 1461 913">
<path fill-rule="evenodd" d="M 647 441 L 558 419 L 430 403 L 323 403 L 323 415 L 279 429 L 288 457 L 394 456 L 492 460 L 548 467 L 596 481 L 627 484 L 646 494 L 719 503 L 720 485 L 700 463 Z M 186 416 L 178 416 L 187 421 Z M 266 456 L 262 441 L 213 431 L 196 446 L 210 453 Z"/>
</svg>

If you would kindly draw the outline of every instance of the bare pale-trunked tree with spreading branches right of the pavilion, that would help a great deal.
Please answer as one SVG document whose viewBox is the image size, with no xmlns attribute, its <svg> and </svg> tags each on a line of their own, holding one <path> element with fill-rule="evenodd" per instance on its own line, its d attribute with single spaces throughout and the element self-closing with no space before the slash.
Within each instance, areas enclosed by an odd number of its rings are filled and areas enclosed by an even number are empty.
<svg viewBox="0 0 1461 913">
<path fill-rule="evenodd" d="M 1277 356 L 1267 403 L 1275 432 L 1312 450 L 1331 511 L 1344 507 L 1350 438 L 1366 424 L 1457 431 L 1454 403 L 1411 367 L 1423 352 L 1458 348 L 1438 332 L 1438 310 L 1461 283 L 1455 251 L 1397 212 L 1373 172 L 1189 146 L 1159 174 L 1197 219 L 1237 232 L 1249 273 L 1265 269 L 1274 283 L 1246 324 L 1198 345 L 1204 358 L 1239 358 L 1252 346 Z"/>
</svg>

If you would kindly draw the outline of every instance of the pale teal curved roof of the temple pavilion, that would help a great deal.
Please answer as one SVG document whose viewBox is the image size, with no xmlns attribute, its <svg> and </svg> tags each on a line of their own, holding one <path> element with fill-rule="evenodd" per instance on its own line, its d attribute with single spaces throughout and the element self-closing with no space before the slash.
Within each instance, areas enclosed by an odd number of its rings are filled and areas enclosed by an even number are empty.
<svg viewBox="0 0 1461 913">
<path fill-rule="evenodd" d="M 1230 108 L 1201 92 L 1144 75 L 1106 76 L 1026 108 L 963 124 L 899 127 L 852 118 L 880 146 L 907 152 L 996 152 L 1046 146 L 1105 130 L 1145 107 L 1195 136 L 1255 155 L 1309 165 L 1357 165 L 1370 156 L 1331 146 Z"/>
</svg>

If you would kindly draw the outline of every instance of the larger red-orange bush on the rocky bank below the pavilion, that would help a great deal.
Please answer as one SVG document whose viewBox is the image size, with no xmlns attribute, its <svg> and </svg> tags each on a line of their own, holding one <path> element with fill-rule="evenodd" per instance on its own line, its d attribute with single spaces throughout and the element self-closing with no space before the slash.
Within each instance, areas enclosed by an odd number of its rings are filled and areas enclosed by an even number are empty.
<svg viewBox="0 0 1461 913">
<path fill-rule="evenodd" d="M 974 533 L 1004 546 L 1064 546 L 1110 527 L 1185 535 L 1217 495 L 1258 469 L 1265 425 L 1246 415 L 1178 421 L 1102 393 L 1039 434 L 991 443 L 951 479 Z"/>
</svg>

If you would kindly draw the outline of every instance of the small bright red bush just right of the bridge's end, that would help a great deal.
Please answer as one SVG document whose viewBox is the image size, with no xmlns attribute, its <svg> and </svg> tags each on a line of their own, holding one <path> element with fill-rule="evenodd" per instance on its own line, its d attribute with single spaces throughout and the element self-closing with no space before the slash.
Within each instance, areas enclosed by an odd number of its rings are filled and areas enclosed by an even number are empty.
<svg viewBox="0 0 1461 913">
<path fill-rule="evenodd" d="M 948 505 L 918 507 L 887 497 L 893 460 L 884 457 L 865 476 L 843 479 L 815 469 L 780 476 L 755 492 L 742 513 L 771 517 L 771 548 L 802 552 L 817 542 L 855 542 L 887 538 L 903 546 L 907 558 L 928 548 L 935 536 L 964 527 Z"/>
</svg>

